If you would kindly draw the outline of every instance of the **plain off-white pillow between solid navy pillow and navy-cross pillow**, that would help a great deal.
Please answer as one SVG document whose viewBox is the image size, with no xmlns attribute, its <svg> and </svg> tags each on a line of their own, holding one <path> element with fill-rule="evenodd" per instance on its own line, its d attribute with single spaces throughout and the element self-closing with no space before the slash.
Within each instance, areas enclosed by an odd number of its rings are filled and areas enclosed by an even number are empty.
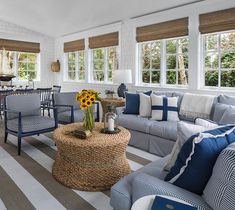
<svg viewBox="0 0 235 210">
<path fill-rule="evenodd" d="M 140 93 L 140 108 L 139 108 L 139 115 L 141 117 L 151 117 L 151 97 Z"/>
</svg>

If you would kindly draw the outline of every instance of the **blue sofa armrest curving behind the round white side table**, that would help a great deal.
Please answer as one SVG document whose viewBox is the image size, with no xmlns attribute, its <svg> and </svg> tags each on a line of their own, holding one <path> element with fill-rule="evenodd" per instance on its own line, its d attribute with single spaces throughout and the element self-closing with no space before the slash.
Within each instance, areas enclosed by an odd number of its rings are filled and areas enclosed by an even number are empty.
<svg viewBox="0 0 235 210">
<path fill-rule="evenodd" d="M 198 209 L 211 210 L 201 196 L 148 174 L 136 175 L 131 186 L 132 203 L 146 195 L 166 195 L 181 199 Z"/>
</svg>

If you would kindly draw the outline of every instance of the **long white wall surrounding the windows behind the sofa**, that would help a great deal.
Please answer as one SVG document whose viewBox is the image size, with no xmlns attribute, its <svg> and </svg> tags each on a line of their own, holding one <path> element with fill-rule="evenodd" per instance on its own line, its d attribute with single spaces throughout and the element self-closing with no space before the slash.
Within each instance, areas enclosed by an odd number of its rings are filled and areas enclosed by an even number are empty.
<svg viewBox="0 0 235 210">
<path fill-rule="evenodd" d="M 127 69 L 130 68 L 133 71 L 133 78 L 136 72 L 136 41 L 135 41 L 135 31 L 136 27 L 164 22 L 168 20 L 178 19 L 182 17 L 189 17 L 189 87 L 188 89 L 181 88 L 181 91 L 198 92 L 198 93 L 210 93 L 218 94 L 218 90 L 202 90 L 200 89 L 200 36 L 198 31 L 199 24 L 199 14 L 231 8 L 235 6 L 234 0 L 208 0 L 199 3 L 194 3 L 191 5 L 186 5 L 179 8 L 174 8 L 159 13 L 154 13 L 151 15 L 146 15 L 143 17 L 123 20 L 120 23 L 103 26 L 100 28 L 94 28 L 89 31 L 79 32 L 71 34 L 69 36 L 60 37 L 55 40 L 55 59 L 61 61 L 61 72 L 55 74 L 55 83 L 62 85 L 62 91 L 77 91 L 83 88 L 95 88 L 99 91 L 105 89 L 116 90 L 116 85 L 100 85 L 100 84 L 88 84 L 79 82 L 64 82 L 63 81 L 63 43 L 66 41 L 72 41 L 80 38 L 86 39 L 86 44 L 88 44 L 88 37 L 95 36 L 99 34 L 104 34 L 112 31 L 119 31 L 119 47 L 120 47 L 120 57 L 119 57 L 119 68 Z M 88 45 L 86 45 L 87 47 Z M 129 85 L 129 89 L 134 91 L 136 89 L 150 89 L 150 87 Z M 151 88 L 151 89 L 159 89 Z M 172 87 L 162 87 L 164 90 L 172 90 Z M 175 90 L 175 88 L 173 88 Z M 223 91 L 226 94 L 234 94 L 234 91 Z"/>
</svg>

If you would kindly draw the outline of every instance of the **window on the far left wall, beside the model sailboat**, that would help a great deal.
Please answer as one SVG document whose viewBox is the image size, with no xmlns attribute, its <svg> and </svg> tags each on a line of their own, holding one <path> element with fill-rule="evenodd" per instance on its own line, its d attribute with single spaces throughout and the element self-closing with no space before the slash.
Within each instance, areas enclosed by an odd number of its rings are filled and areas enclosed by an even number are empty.
<svg viewBox="0 0 235 210">
<path fill-rule="evenodd" d="M 38 53 L 7 51 L 7 57 L 17 80 L 39 80 Z"/>
</svg>

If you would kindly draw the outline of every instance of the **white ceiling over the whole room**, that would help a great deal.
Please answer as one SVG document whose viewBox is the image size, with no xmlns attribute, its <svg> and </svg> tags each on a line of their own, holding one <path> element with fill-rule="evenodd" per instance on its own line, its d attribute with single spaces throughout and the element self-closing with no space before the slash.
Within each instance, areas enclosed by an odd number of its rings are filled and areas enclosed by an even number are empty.
<svg viewBox="0 0 235 210">
<path fill-rule="evenodd" d="M 0 0 L 0 19 L 59 37 L 196 0 Z"/>
</svg>

